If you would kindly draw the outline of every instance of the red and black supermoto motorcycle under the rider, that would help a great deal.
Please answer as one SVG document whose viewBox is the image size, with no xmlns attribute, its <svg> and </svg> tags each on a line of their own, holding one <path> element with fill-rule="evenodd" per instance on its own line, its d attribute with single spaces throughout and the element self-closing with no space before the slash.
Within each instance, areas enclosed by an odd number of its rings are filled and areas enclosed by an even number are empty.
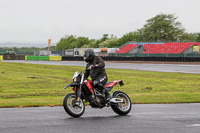
<svg viewBox="0 0 200 133">
<path fill-rule="evenodd" d="M 85 70 L 88 71 L 88 70 Z M 92 108 L 111 107 L 112 110 L 119 115 L 126 115 L 131 111 L 131 100 L 129 96 L 122 91 L 114 91 L 108 100 L 102 89 L 94 88 L 92 81 L 84 79 L 85 71 L 75 72 L 73 82 L 64 87 L 72 87 L 74 93 L 69 93 L 63 100 L 65 111 L 72 117 L 80 117 L 85 112 L 85 103 L 89 102 Z M 105 86 L 110 92 L 112 88 L 119 84 L 123 86 L 123 80 L 108 82 Z"/>
</svg>

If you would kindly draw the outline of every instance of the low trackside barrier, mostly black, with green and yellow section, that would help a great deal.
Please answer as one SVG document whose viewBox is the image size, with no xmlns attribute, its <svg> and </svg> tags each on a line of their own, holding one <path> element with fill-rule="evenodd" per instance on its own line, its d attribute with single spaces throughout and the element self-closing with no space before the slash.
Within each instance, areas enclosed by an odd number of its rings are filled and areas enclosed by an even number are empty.
<svg viewBox="0 0 200 133">
<path fill-rule="evenodd" d="M 172 57 L 171 57 L 172 56 Z M 200 57 L 182 57 L 175 55 L 165 56 L 103 56 L 105 61 L 168 61 L 168 62 L 200 62 Z M 25 56 L 25 55 L 4 55 L 0 60 L 34 60 L 34 61 L 83 61 L 82 56 Z"/>
</svg>

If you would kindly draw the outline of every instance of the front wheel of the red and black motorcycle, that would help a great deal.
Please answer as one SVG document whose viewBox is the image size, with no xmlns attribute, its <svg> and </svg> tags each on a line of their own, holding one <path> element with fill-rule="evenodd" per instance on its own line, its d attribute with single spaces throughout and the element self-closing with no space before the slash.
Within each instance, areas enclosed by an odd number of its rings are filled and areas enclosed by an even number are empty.
<svg viewBox="0 0 200 133">
<path fill-rule="evenodd" d="M 76 95 L 74 93 L 69 93 L 65 96 L 63 106 L 65 111 L 73 117 L 80 117 L 85 112 L 83 100 L 80 99 L 80 102 L 77 104 Z"/>
</svg>

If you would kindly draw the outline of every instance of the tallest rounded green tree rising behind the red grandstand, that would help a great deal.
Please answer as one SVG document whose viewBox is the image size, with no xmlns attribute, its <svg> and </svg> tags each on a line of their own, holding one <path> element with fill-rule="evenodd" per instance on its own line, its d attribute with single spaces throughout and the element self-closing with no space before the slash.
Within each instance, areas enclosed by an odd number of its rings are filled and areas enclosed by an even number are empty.
<svg viewBox="0 0 200 133">
<path fill-rule="evenodd" d="M 143 36 L 142 41 L 181 41 L 183 40 L 185 29 L 181 23 L 176 21 L 173 14 L 159 14 L 147 20 L 144 27 L 138 30 Z"/>
</svg>

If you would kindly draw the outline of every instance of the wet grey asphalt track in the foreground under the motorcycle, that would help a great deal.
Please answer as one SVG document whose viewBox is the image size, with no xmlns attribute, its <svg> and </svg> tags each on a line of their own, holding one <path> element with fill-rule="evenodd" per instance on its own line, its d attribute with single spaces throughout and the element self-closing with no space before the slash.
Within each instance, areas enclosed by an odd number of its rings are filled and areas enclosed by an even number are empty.
<svg viewBox="0 0 200 133">
<path fill-rule="evenodd" d="M 62 107 L 2 108 L 1 133 L 199 133 L 200 103 L 136 104 L 126 116 L 87 106 L 80 118 Z"/>
</svg>

